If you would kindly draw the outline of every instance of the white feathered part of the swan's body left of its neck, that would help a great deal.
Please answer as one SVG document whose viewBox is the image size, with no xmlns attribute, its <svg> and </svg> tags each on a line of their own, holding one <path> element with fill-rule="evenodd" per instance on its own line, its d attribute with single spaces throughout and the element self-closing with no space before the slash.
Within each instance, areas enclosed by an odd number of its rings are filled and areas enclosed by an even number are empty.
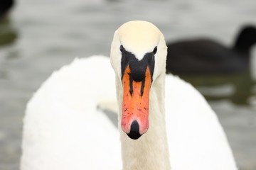
<svg viewBox="0 0 256 170">
<path fill-rule="evenodd" d="M 90 57 L 42 84 L 23 120 L 22 170 L 121 169 L 119 132 L 96 105 L 114 101 L 113 74 L 107 57 Z"/>
</svg>

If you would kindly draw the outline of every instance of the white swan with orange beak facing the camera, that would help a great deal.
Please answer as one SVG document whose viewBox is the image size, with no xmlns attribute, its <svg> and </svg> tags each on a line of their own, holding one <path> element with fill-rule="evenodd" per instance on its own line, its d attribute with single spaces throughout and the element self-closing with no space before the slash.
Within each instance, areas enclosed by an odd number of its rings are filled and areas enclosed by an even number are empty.
<svg viewBox="0 0 256 170">
<path fill-rule="evenodd" d="M 53 72 L 27 104 L 21 170 L 237 169 L 203 96 L 166 76 L 166 52 L 156 26 L 129 21 L 115 31 L 110 59 Z M 118 112 L 118 128 L 98 108 Z"/>
</svg>

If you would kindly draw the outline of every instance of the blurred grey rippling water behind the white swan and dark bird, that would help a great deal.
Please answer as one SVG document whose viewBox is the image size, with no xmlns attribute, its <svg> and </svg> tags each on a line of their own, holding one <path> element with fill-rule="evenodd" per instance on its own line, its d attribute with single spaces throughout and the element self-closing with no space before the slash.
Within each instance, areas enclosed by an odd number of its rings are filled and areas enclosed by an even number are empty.
<svg viewBox="0 0 256 170">
<path fill-rule="evenodd" d="M 150 21 L 169 43 L 208 38 L 226 50 L 233 46 L 242 26 L 256 26 L 255 0 L 16 0 L 7 13 L 1 8 L 7 8 L 4 3 L 11 4 L 11 0 L 4 1 L 0 2 L 1 170 L 18 169 L 22 120 L 33 92 L 53 70 L 75 57 L 109 56 L 114 30 L 122 23 Z M 205 48 L 198 47 L 199 51 L 202 49 Z M 206 96 L 227 133 L 241 170 L 256 169 L 253 46 L 249 57 L 238 72 L 175 73 Z M 232 62 L 232 57 L 228 61 Z M 187 67 L 182 62 L 178 65 Z"/>
</svg>

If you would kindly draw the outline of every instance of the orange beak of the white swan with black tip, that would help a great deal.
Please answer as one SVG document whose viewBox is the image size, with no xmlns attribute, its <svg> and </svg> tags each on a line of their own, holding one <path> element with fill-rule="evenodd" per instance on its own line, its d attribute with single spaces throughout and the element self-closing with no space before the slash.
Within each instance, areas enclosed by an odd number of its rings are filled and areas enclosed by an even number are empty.
<svg viewBox="0 0 256 170">
<path fill-rule="evenodd" d="M 129 65 L 122 77 L 123 103 L 121 127 L 129 137 L 137 140 L 149 129 L 149 90 L 151 87 L 151 74 L 146 67 L 145 79 L 134 81 L 130 78 Z"/>
</svg>

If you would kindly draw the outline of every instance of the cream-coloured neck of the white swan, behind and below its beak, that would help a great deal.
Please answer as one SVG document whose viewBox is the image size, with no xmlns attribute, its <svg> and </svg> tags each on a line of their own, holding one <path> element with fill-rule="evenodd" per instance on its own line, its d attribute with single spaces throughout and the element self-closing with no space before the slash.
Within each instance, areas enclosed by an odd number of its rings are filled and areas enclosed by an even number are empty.
<svg viewBox="0 0 256 170">
<path fill-rule="evenodd" d="M 171 169 L 164 115 L 164 78 L 160 75 L 152 84 L 149 97 L 149 130 L 138 140 L 130 139 L 120 127 L 122 86 L 117 80 L 119 131 L 122 144 L 123 169 Z"/>
</svg>

